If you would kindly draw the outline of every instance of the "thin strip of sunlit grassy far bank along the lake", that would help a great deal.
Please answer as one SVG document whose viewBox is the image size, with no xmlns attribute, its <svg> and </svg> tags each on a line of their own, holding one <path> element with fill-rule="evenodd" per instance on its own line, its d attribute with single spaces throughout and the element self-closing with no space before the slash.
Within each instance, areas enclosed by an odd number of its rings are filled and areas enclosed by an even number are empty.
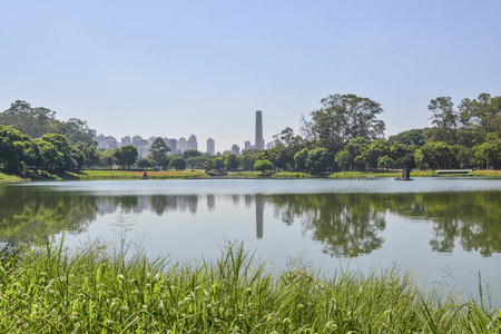
<svg viewBox="0 0 501 334">
<path fill-rule="evenodd" d="M 36 174 L 27 171 L 22 176 L 3 174 L 0 171 L 0 183 L 20 183 L 30 180 L 105 180 L 105 179 L 141 179 L 144 170 L 116 170 L 116 169 L 84 169 L 78 171 L 66 173 L 43 173 Z M 338 171 L 332 174 L 307 174 L 294 171 L 229 171 L 224 176 L 210 177 L 203 169 L 187 170 L 146 170 L 148 179 L 208 179 L 208 178 L 227 178 L 227 179 L 297 179 L 297 178 L 374 178 L 374 177 L 399 177 L 399 171 Z M 413 170 L 411 177 L 433 177 L 435 170 Z M 456 177 L 459 175 L 443 175 L 440 177 Z M 500 178 L 501 170 L 473 170 L 472 173 L 461 175 L 471 177 L 493 177 Z"/>
</svg>

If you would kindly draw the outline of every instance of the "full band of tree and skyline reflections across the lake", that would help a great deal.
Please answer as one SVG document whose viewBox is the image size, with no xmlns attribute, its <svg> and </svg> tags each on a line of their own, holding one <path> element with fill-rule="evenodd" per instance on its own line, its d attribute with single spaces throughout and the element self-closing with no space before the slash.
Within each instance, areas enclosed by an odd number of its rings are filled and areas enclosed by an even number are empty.
<svg viewBox="0 0 501 334">
<path fill-rule="evenodd" d="M 97 216 L 118 209 L 137 215 L 177 212 L 195 216 L 202 209 L 199 204 L 208 213 L 223 212 L 230 204 L 242 210 L 240 215 L 255 208 L 256 234 L 249 237 L 265 237 L 265 212 L 269 207 L 275 219 L 301 224 L 305 235 L 335 257 L 356 257 L 381 248 L 390 214 L 431 224 L 430 247 L 434 252 L 452 253 L 460 246 L 491 256 L 501 253 L 499 203 L 500 191 L 100 196 L 42 187 L 0 187 L 0 240 L 32 242 L 41 234 L 65 228 L 81 234 Z"/>
</svg>

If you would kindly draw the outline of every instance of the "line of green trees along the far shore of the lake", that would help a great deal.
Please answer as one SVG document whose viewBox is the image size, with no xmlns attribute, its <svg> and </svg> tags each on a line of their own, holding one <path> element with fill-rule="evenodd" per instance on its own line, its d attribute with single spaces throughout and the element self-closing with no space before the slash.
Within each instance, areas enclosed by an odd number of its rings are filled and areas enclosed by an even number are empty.
<svg viewBox="0 0 501 334">
<path fill-rule="evenodd" d="M 322 174 L 375 169 L 501 169 L 501 97 L 482 92 L 455 107 L 451 97 L 430 101 L 431 127 L 384 137 L 380 104 L 356 95 L 331 95 L 302 119 L 301 134 L 286 127 L 274 147 L 242 156 L 203 155 L 197 150 L 169 155 L 158 137 L 143 158 L 134 146 L 97 149 L 85 120 L 60 121 L 47 108 L 18 100 L 0 114 L 0 164 L 7 171 L 24 166 L 78 169 L 121 166 L 161 169 L 204 168 L 218 175 L 232 170 L 284 170 Z"/>
</svg>

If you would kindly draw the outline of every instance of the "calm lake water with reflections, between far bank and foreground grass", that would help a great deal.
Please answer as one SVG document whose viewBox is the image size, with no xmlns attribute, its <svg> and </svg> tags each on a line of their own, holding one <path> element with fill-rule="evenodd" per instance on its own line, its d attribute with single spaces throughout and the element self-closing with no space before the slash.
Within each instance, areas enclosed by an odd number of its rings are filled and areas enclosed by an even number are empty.
<svg viewBox="0 0 501 334">
<path fill-rule="evenodd" d="M 0 186 L 0 239 L 59 235 L 73 247 L 120 236 L 156 256 L 215 258 L 227 240 L 277 267 L 396 265 L 436 287 L 501 302 L 501 180 L 114 180 Z M 120 225 L 119 223 L 122 222 Z M 124 232 L 126 228 L 126 232 Z"/>
</svg>

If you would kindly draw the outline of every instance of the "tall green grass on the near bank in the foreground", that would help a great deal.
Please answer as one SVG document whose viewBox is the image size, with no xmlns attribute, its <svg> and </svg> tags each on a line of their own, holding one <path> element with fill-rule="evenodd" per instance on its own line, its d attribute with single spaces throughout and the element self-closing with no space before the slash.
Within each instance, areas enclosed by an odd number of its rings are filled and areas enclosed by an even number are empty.
<svg viewBox="0 0 501 334">
<path fill-rule="evenodd" d="M 2 257 L 0 294 L 2 333 L 501 331 L 498 312 L 443 299 L 397 269 L 323 277 L 292 264 L 274 273 L 240 245 L 202 265 L 125 262 L 96 246 L 27 248 Z"/>
</svg>

